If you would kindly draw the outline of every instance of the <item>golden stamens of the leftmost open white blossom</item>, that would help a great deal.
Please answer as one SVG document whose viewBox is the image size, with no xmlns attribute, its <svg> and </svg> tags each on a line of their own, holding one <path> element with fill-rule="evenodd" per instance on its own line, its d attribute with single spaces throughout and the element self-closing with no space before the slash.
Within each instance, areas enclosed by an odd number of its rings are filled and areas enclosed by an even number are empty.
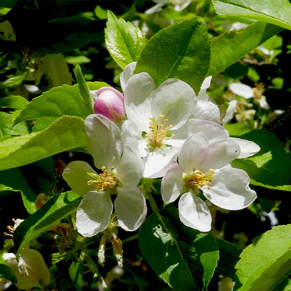
<svg viewBox="0 0 291 291">
<path fill-rule="evenodd" d="M 88 185 L 95 184 L 96 190 L 98 192 L 105 191 L 107 188 L 114 189 L 119 183 L 119 180 L 115 175 L 110 175 L 105 167 L 101 168 L 101 174 L 87 173 L 90 177 L 95 178 L 95 180 L 89 180 L 87 182 Z"/>
</svg>

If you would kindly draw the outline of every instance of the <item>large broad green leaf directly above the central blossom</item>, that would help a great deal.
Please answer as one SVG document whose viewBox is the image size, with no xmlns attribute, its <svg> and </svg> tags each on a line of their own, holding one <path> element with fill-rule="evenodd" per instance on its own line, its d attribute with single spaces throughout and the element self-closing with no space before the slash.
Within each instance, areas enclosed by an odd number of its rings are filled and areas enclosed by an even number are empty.
<svg viewBox="0 0 291 291">
<path fill-rule="evenodd" d="M 156 33 L 146 44 L 134 73 L 147 72 L 156 86 L 178 78 L 196 94 L 209 68 L 210 42 L 204 18 L 176 22 Z"/>
</svg>

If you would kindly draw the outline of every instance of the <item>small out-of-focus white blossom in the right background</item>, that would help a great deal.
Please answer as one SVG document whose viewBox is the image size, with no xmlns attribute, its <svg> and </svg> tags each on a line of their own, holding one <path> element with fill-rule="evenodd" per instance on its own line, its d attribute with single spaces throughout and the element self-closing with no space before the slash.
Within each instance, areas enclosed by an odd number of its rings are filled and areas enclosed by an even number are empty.
<svg viewBox="0 0 291 291">
<path fill-rule="evenodd" d="M 264 85 L 261 83 L 256 84 L 255 88 L 251 88 L 250 86 L 242 83 L 231 83 L 229 85 L 229 89 L 232 93 L 246 99 L 254 98 L 254 102 L 259 104 L 262 109 L 270 109 L 270 106 L 266 101 L 266 97 L 262 95 L 264 92 Z"/>
</svg>

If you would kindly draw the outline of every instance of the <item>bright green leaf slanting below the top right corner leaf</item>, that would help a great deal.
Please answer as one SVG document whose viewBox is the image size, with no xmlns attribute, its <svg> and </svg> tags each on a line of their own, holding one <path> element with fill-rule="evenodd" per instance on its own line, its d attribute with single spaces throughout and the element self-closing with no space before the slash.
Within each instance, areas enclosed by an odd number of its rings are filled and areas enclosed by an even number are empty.
<svg viewBox="0 0 291 291">
<path fill-rule="evenodd" d="M 211 39 L 211 59 L 208 76 L 214 76 L 241 59 L 273 35 L 283 31 L 281 27 L 257 22 L 241 32 L 225 32 Z"/>
</svg>

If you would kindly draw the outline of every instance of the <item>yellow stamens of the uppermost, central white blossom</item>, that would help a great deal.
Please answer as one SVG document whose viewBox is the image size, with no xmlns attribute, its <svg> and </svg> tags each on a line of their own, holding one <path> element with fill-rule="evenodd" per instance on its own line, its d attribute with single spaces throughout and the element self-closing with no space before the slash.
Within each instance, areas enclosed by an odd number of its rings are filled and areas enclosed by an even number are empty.
<svg viewBox="0 0 291 291">
<path fill-rule="evenodd" d="M 166 125 L 168 122 L 167 118 L 164 118 L 162 114 L 159 115 L 159 118 L 155 119 L 155 117 L 150 117 L 149 121 L 149 130 L 150 132 L 146 134 L 149 144 L 148 146 L 152 147 L 160 147 L 162 146 L 162 142 L 164 140 L 167 140 L 174 136 L 174 134 L 171 133 L 171 128 L 173 125 Z"/>
</svg>

